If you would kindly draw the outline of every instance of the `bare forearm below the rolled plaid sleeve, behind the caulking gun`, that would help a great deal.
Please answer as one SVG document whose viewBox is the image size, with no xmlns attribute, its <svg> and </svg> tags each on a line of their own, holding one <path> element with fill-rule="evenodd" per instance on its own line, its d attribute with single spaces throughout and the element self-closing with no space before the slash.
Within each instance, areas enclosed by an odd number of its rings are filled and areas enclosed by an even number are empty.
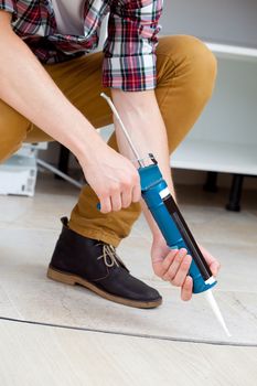
<svg viewBox="0 0 257 386">
<path fill-rule="evenodd" d="M 111 93 L 114 103 L 140 157 L 144 158 L 150 152 L 154 154 L 162 175 L 174 197 L 167 131 L 154 92 L 124 93 L 113 89 Z M 120 152 L 129 159 L 135 159 L 116 120 L 115 125 Z M 143 202 L 142 210 L 153 237 L 161 237 L 160 230 Z"/>
</svg>

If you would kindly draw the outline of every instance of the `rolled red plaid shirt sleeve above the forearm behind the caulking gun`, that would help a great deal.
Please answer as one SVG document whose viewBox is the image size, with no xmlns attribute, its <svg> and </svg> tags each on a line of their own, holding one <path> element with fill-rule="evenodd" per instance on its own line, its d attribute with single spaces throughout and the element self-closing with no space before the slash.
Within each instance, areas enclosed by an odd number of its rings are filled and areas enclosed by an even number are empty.
<svg viewBox="0 0 257 386">
<path fill-rule="evenodd" d="M 156 88 L 156 47 L 162 0 L 111 2 L 103 85 L 126 92 Z"/>
</svg>

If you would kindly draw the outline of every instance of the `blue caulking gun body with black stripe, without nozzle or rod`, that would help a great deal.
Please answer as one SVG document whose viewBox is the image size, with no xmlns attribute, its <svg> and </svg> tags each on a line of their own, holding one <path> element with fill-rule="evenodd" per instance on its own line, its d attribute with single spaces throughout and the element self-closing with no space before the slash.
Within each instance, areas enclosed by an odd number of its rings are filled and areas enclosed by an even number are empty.
<svg viewBox="0 0 257 386">
<path fill-rule="evenodd" d="M 193 279 L 193 293 L 208 290 L 216 280 L 192 235 L 178 205 L 169 192 L 160 169 L 154 164 L 138 169 L 142 199 L 157 222 L 171 249 L 185 248 L 192 256 L 189 275 Z"/>
</svg>

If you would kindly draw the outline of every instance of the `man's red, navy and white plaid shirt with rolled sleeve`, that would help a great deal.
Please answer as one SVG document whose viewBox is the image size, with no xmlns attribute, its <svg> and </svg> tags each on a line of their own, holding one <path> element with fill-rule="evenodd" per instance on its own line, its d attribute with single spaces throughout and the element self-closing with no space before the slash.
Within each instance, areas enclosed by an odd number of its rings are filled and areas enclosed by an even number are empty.
<svg viewBox="0 0 257 386">
<path fill-rule="evenodd" d="M 1 9 L 12 13 L 13 31 L 42 63 L 64 62 L 96 49 L 101 20 L 109 13 L 103 85 L 127 92 L 156 87 L 162 0 L 86 0 L 83 36 L 57 33 L 51 0 L 0 0 Z"/>
</svg>

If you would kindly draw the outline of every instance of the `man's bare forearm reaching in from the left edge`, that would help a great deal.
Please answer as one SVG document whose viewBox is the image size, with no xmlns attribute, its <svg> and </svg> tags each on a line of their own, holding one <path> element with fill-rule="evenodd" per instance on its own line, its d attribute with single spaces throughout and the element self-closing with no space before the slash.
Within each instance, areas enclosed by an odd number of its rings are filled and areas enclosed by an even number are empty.
<svg viewBox="0 0 257 386">
<path fill-rule="evenodd" d="M 7 15 L 0 14 L 0 21 Z M 1 25 L 2 26 L 2 25 Z M 0 98 L 78 158 L 99 136 L 11 28 L 0 34 Z"/>
</svg>

